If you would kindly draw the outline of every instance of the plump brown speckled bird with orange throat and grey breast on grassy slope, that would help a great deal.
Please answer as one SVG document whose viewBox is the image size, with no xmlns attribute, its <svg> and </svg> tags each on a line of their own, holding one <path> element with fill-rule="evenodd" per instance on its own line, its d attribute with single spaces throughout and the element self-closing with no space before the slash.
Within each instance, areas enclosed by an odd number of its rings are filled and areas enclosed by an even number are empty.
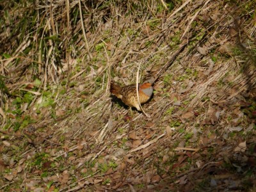
<svg viewBox="0 0 256 192">
<path fill-rule="evenodd" d="M 151 98 L 154 90 L 152 84 L 153 83 L 151 83 L 150 80 L 144 81 L 142 84 L 139 84 L 140 104 L 144 104 Z M 141 107 L 137 98 L 136 84 L 120 86 L 115 81 L 111 81 L 110 92 L 118 99 L 121 99 L 125 105 L 130 107 L 130 109 L 134 107 L 138 111 L 141 111 Z"/>
</svg>

